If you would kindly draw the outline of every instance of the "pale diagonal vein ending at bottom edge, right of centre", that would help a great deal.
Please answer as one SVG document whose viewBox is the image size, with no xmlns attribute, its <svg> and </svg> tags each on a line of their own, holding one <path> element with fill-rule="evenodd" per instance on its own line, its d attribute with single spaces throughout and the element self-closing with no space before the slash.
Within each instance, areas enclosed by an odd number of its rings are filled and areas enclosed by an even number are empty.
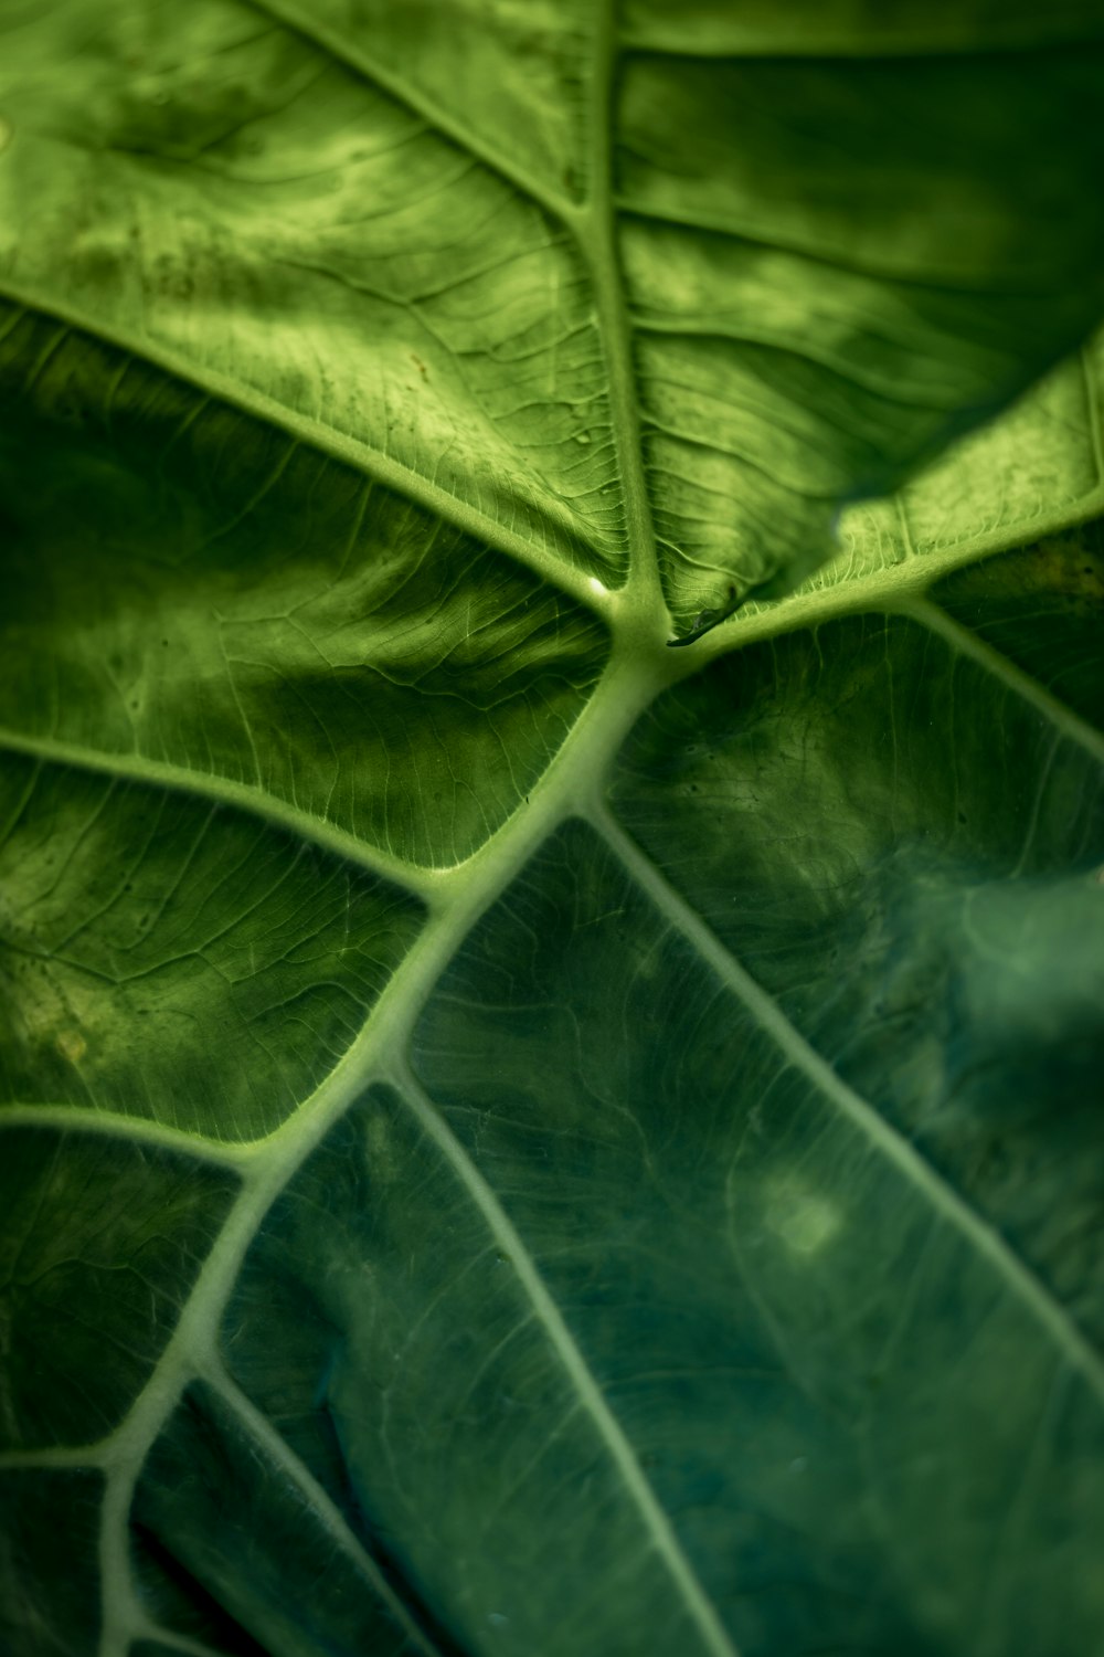
<svg viewBox="0 0 1104 1657">
<path fill-rule="evenodd" d="M 579 1352 L 559 1307 L 553 1301 L 545 1279 L 541 1278 L 536 1263 L 530 1256 L 513 1221 L 434 1105 L 432 1099 L 425 1094 L 422 1084 L 417 1080 L 406 1059 L 394 1065 L 394 1082 L 410 1107 L 420 1128 L 434 1142 L 445 1162 L 454 1168 L 457 1178 L 482 1215 L 487 1229 L 495 1238 L 495 1243 L 511 1261 L 518 1281 L 545 1329 L 548 1344 L 556 1354 L 564 1374 L 571 1380 L 579 1402 L 594 1422 L 614 1466 L 624 1480 L 626 1491 L 641 1514 L 641 1521 L 655 1549 L 657 1559 L 685 1602 L 690 1621 L 700 1634 L 702 1650 L 710 1652 L 712 1657 L 738 1657 L 715 1606 L 705 1594 L 690 1566 L 690 1561 L 682 1551 L 682 1544 L 670 1519 L 664 1513 L 652 1486 L 644 1476 L 644 1470 L 641 1468 L 637 1455 L 629 1443 L 621 1422 L 602 1397 L 586 1359 Z"/>
</svg>

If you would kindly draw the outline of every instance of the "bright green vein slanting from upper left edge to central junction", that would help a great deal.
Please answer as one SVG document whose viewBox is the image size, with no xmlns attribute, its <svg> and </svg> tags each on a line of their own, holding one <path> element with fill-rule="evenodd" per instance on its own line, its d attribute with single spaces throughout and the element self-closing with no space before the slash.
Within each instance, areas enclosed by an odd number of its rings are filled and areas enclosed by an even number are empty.
<svg viewBox="0 0 1104 1657">
<path fill-rule="evenodd" d="M 40 316 L 53 316 L 65 326 L 74 328 L 114 350 L 129 351 L 131 356 L 147 363 L 151 368 L 159 368 L 162 373 L 195 386 L 212 398 L 218 398 L 230 408 L 240 409 L 250 419 L 286 431 L 291 437 L 296 437 L 319 454 L 328 454 L 361 476 L 372 477 L 376 482 L 384 484 L 384 487 L 412 500 L 422 510 L 442 519 L 442 522 L 450 524 L 465 535 L 472 535 L 495 552 L 502 552 L 515 562 L 523 563 L 543 582 L 548 582 L 550 587 L 558 587 L 561 592 L 569 593 L 576 603 L 586 605 L 588 610 L 594 610 L 599 615 L 609 611 L 606 588 L 596 583 L 586 570 L 566 562 L 566 558 L 558 558 L 545 552 L 543 547 L 506 529 L 497 519 L 487 517 L 478 507 L 468 505 L 467 500 L 442 489 L 439 484 L 430 484 L 420 472 L 410 471 L 410 467 L 402 466 L 402 462 L 372 447 L 369 442 L 338 431 L 338 428 L 328 426 L 324 421 L 313 419 L 310 414 L 300 414 L 296 409 L 286 408 L 286 404 L 278 403 L 255 386 L 242 384 L 230 374 L 223 374 L 205 363 L 189 361 L 180 353 L 170 351 L 141 333 L 108 325 L 101 318 L 81 312 L 74 305 L 68 305 L 65 300 L 31 295 L 7 278 L 0 282 L 0 298 L 8 300 L 12 305 L 22 305 Z"/>
</svg>

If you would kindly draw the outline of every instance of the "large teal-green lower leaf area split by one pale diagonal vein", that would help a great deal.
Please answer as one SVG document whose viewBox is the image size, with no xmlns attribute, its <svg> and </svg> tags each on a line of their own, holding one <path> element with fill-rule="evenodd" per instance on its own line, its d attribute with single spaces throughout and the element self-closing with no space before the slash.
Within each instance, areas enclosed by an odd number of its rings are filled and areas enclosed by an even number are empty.
<svg viewBox="0 0 1104 1657">
<path fill-rule="evenodd" d="M 675 916 L 583 825 L 525 870 L 265 1221 L 237 1382 L 465 1649 L 647 1596 L 655 1650 L 1026 1654 L 1054 1582 L 1087 1635 L 1099 1367 Z"/>
</svg>

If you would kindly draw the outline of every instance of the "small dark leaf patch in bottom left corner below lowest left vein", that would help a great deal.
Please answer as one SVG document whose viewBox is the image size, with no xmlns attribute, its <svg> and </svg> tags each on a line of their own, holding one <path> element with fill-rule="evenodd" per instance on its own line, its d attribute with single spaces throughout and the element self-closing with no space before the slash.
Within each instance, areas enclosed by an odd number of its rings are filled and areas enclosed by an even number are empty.
<svg viewBox="0 0 1104 1657">
<path fill-rule="evenodd" d="M 94 1471 L 0 1473 L 3 1657 L 98 1657 L 101 1496 Z"/>
</svg>

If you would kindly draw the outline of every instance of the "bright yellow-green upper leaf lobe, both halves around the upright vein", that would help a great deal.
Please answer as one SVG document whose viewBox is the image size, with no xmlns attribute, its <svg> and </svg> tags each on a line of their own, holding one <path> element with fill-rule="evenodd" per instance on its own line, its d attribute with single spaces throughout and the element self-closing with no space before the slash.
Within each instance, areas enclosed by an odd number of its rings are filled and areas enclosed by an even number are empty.
<svg viewBox="0 0 1104 1657">
<path fill-rule="evenodd" d="M 1096 8 L 887 12 L 55 0 L 0 288 L 685 630 L 1104 310 Z"/>
</svg>

